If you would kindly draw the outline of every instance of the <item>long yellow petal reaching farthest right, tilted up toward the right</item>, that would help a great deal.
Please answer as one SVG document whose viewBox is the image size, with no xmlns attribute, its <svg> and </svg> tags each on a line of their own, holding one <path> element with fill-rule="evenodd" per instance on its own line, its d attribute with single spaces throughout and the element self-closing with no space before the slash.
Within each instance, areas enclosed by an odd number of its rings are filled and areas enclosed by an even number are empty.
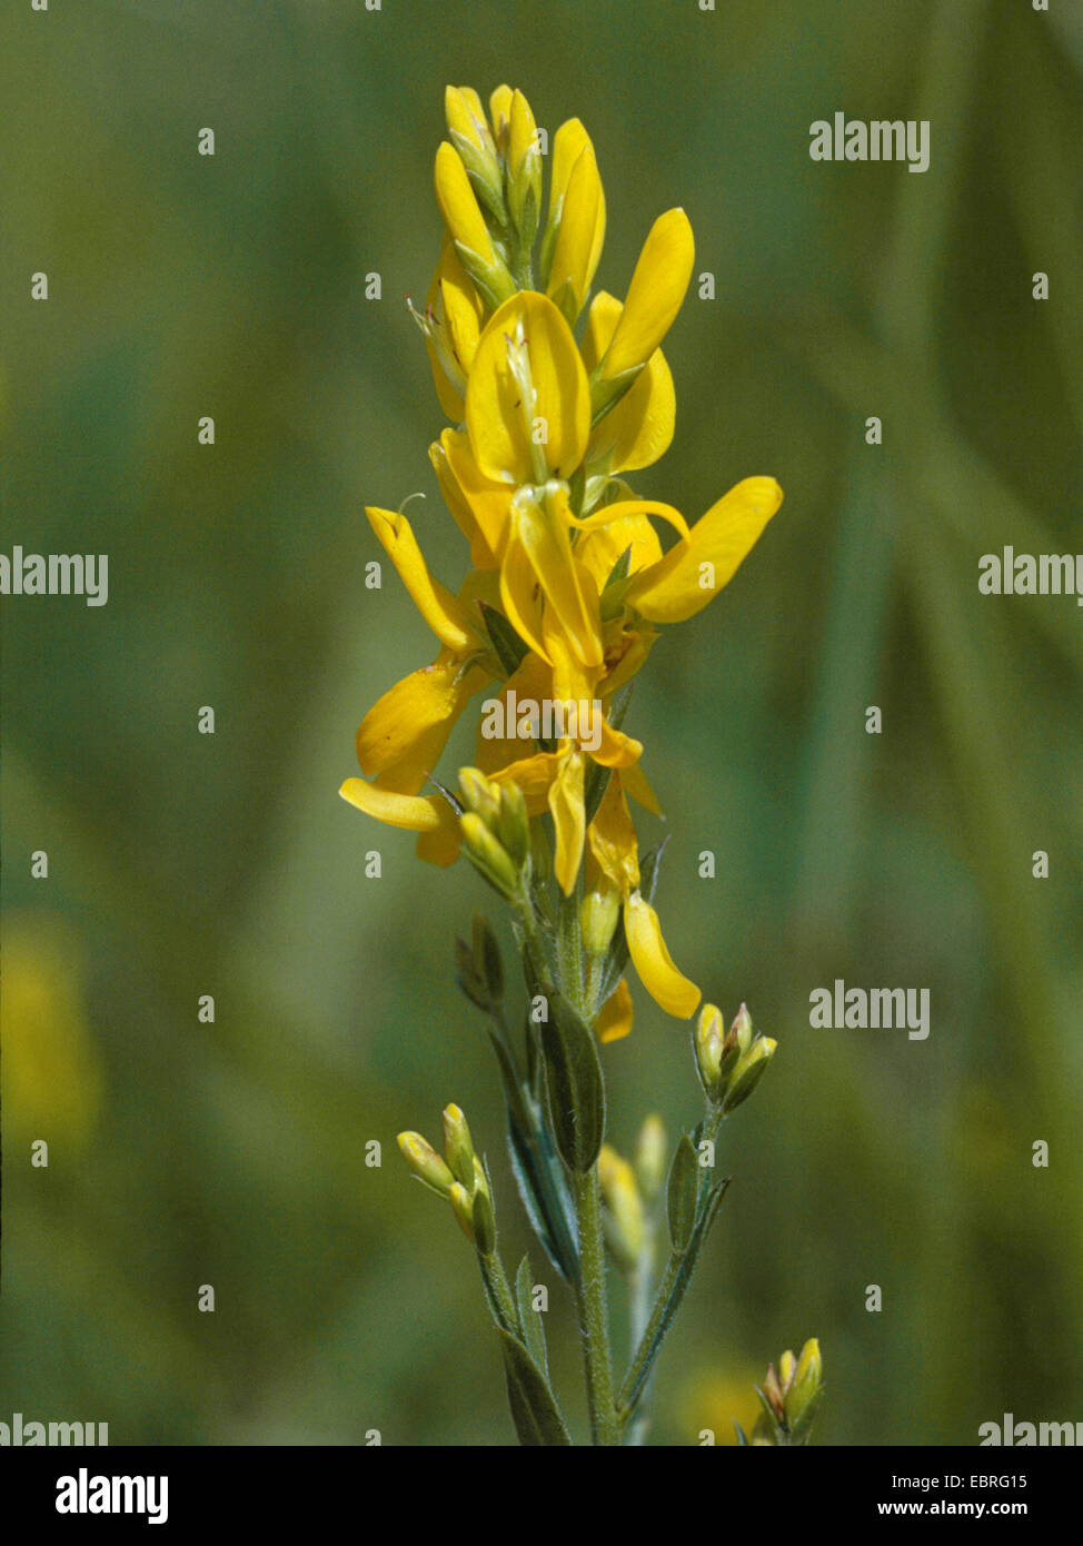
<svg viewBox="0 0 1083 1546">
<path fill-rule="evenodd" d="M 782 489 L 774 478 L 738 482 L 661 563 L 640 570 L 624 600 L 652 623 L 694 617 L 729 584 L 780 504 Z"/>
</svg>

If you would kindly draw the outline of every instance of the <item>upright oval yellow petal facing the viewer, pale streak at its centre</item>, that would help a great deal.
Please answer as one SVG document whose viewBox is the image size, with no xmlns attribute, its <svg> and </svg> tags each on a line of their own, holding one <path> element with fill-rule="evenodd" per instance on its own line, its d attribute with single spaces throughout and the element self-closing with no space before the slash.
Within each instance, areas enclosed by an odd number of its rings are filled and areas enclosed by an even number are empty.
<svg viewBox="0 0 1083 1546">
<path fill-rule="evenodd" d="M 525 346 L 533 402 L 511 371 Z M 467 383 L 467 430 L 485 478 L 519 487 L 570 478 L 590 433 L 590 388 L 564 317 L 545 295 L 508 297 L 482 332 Z"/>
</svg>

